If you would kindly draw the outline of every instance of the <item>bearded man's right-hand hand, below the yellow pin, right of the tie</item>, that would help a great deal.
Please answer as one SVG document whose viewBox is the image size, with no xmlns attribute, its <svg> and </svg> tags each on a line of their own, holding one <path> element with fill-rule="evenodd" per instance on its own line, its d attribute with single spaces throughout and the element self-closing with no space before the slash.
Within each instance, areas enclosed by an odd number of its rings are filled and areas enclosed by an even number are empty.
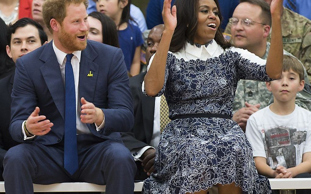
<svg viewBox="0 0 311 194">
<path fill-rule="evenodd" d="M 81 122 L 95 123 L 97 126 L 104 121 L 104 113 L 100 108 L 95 107 L 91 102 L 87 102 L 84 97 L 81 98 Z"/>
</svg>

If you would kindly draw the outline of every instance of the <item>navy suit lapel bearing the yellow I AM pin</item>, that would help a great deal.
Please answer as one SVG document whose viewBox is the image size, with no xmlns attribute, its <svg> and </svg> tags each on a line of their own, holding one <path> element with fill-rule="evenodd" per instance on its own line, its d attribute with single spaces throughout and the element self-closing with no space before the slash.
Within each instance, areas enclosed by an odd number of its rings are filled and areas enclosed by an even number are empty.
<svg viewBox="0 0 311 194">
<path fill-rule="evenodd" d="M 93 62 L 96 56 L 97 53 L 91 47 L 91 44 L 88 44 L 86 49 L 81 52 L 79 70 L 79 96 L 80 99 L 81 97 L 84 97 L 88 102 L 93 102 L 95 94 L 95 86 L 99 69 L 99 65 Z"/>
</svg>

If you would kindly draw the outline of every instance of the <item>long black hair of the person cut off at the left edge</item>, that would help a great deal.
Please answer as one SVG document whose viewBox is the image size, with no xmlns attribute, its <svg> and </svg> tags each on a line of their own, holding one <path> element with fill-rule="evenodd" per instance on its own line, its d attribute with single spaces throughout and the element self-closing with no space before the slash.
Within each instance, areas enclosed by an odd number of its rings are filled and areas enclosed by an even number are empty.
<svg viewBox="0 0 311 194">
<path fill-rule="evenodd" d="M 0 78 L 15 68 L 14 61 L 7 55 L 7 25 L 0 18 Z M 3 76 L 2 76 L 3 75 Z"/>
</svg>

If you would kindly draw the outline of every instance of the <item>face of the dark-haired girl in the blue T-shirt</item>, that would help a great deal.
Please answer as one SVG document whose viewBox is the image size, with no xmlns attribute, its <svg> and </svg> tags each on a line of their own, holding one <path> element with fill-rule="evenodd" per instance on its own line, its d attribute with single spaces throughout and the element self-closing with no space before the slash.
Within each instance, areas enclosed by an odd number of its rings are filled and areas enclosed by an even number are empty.
<svg viewBox="0 0 311 194">
<path fill-rule="evenodd" d="M 114 21 L 120 19 L 123 8 L 127 5 L 127 0 L 96 0 L 97 11 L 109 16 Z M 124 5 L 125 4 L 125 5 Z"/>
</svg>

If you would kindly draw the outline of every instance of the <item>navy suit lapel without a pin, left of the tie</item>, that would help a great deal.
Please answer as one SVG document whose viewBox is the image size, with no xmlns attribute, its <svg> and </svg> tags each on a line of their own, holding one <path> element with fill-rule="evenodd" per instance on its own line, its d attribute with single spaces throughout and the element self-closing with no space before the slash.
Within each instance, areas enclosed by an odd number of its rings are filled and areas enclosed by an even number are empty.
<svg viewBox="0 0 311 194">
<path fill-rule="evenodd" d="M 65 88 L 63 83 L 62 73 L 60 72 L 59 64 L 53 50 L 52 41 L 44 48 L 40 59 L 45 61 L 40 67 L 44 81 L 49 88 L 53 101 L 62 115 L 65 118 Z"/>
</svg>

